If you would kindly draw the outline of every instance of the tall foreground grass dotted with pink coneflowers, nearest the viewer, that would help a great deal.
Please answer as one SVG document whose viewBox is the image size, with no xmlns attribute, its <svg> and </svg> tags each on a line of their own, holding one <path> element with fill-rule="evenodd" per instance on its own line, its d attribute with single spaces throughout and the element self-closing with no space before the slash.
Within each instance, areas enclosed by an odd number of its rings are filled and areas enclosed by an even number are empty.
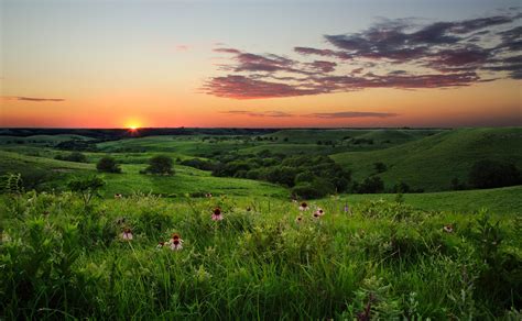
<svg viewBox="0 0 522 321">
<path fill-rule="evenodd" d="M 520 219 L 342 204 L 4 197 L 1 319 L 520 320 Z"/>
</svg>

